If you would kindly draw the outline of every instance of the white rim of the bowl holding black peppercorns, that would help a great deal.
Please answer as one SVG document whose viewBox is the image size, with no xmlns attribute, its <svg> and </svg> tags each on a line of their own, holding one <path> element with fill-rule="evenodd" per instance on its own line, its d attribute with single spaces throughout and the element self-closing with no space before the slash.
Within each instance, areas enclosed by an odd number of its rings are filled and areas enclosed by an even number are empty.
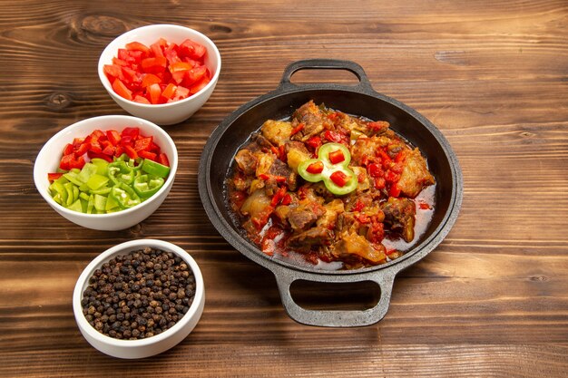
<svg viewBox="0 0 568 378">
<path fill-rule="evenodd" d="M 93 276 L 93 272 L 97 268 L 101 267 L 105 262 L 115 256 L 127 254 L 139 248 L 142 249 L 143 247 L 153 247 L 174 253 L 181 257 L 186 263 L 188 263 L 189 267 L 191 267 L 191 271 L 193 272 L 193 276 L 195 276 L 195 296 L 193 297 L 193 302 L 190 305 L 190 309 L 181 317 L 180 320 L 178 320 L 175 325 L 162 332 L 162 334 L 155 334 L 153 336 L 138 340 L 115 339 L 111 336 L 101 334 L 99 331 L 94 329 L 93 325 L 89 324 L 89 322 L 83 315 L 83 305 L 81 305 L 81 299 L 83 297 L 84 290 L 83 287 L 88 284 L 88 280 L 91 276 Z M 203 276 L 201 275 L 201 269 L 197 265 L 197 262 L 193 259 L 193 257 L 191 257 L 189 253 L 187 253 L 185 249 L 176 246 L 173 243 L 160 239 L 136 239 L 118 244 L 114 247 L 110 247 L 99 256 L 95 257 L 89 263 L 89 265 L 87 265 L 87 267 L 83 269 L 83 272 L 77 279 L 77 283 L 75 284 L 75 288 L 73 289 L 73 313 L 75 320 L 77 321 L 77 323 L 79 323 L 79 327 L 81 327 L 84 332 L 89 334 L 89 336 L 93 337 L 94 339 L 97 339 L 104 344 L 112 344 L 121 348 L 137 348 L 160 343 L 163 340 L 171 337 L 171 335 L 180 332 L 183 327 L 191 322 L 193 316 L 198 315 L 197 312 L 199 310 L 201 301 L 204 299 L 204 295 L 205 287 L 203 286 Z M 201 317 L 201 314 L 199 316 Z M 199 318 L 197 320 L 199 321 Z"/>
</svg>

